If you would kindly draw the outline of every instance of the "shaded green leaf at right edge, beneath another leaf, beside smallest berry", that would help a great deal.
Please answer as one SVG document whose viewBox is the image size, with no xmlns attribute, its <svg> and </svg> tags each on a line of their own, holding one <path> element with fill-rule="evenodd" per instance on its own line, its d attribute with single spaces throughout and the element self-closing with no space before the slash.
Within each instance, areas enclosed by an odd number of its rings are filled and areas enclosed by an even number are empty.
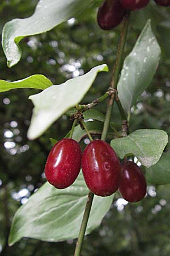
<svg viewBox="0 0 170 256">
<path fill-rule="evenodd" d="M 170 183 L 170 153 L 163 153 L 159 162 L 146 168 L 146 179 L 157 185 Z"/>
</svg>

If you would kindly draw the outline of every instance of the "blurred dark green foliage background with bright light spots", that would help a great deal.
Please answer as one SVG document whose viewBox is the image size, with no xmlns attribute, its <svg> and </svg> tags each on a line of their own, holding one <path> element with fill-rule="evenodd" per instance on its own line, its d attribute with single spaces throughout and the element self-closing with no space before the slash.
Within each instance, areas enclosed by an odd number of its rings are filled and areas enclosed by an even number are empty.
<svg viewBox="0 0 170 256">
<path fill-rule="evenodd" d="M 41 73 L 54 84 L 82 75 L 95 65 L 107 63 L 112 70 L 120 27 L 101 31 L 96 24 L 97 6 L 52 31 L 25 38 L 20 43 L 22 59 L 11 69 L 6 66 L 0 49 L 0 78 L 19 80 Z M 2 0 L 0 3 L 0 30 L 12 18 L 25 18 L 33 13 L 37 1 Z M 154 80 L 133 107 L 130 131 L 140 128 L 163 129 L 170 133 L 170 7 L 156 6 L 154 2 L 145 10 L 131 15 L 130 30 L 125 55 L 127 55 L 148 18 L 162 48 L 162 59 Z M 84 103 L 101 96 L 108 88 L 109 75 L 100 73 Z M 37 90 L 38 92 L 38 90 Z M 71 123 L 63 115 L 36 141 L 27 140 L 27 129 L 32 114 L 28 96 L 32 89 L 18 89 L 0 94 L 0 255 L 73 255 L 76 241 L 47 243 L 24 238 L 12 247 L 7 237 L 14 213 L 21 204 L 44 182 L 44 165 L 51 148 L 50 137 L 60 139 L 70 129 Z M 105 112 L 105 105 L 97 106 Z M 113 121 L 120 121 L 114 106 Z M 169 151 L 169 144 L 166 148 Z M 161 171 L 161 170 L 160 170 Z M 145 200 L 126 204 L 117 192 L 112 209 L 100 228 L 87 236 L 82 256 L 113 255 L 169 255 L 169 185 L 155 187 L 148 184 Z"/>
</svg>

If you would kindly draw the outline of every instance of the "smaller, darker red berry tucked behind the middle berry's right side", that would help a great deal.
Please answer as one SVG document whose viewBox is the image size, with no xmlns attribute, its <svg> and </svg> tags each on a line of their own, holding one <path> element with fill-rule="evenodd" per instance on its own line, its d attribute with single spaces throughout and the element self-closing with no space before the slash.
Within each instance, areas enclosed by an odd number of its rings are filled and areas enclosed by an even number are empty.
<svg viewBox="0 0 170 256">
<path fill-rule="evenodd" d="M 141 168 L 133 162 L 121 164 L 119 191 L 126 201 L 138 202 L 146 195 L 146 179 Z"/>
</svg>

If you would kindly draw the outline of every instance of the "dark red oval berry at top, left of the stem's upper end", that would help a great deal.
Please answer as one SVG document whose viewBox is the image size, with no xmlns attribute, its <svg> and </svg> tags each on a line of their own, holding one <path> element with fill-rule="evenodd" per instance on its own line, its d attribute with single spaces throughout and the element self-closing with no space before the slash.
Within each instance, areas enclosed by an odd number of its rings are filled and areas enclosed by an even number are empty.
<svg viewBox="0 0 170 256">
<path fill-rule="evenodd" d="M 118 0 L 105 0 L 99 7 L 97 23 L 103 30 L 111 30 L 124 18 L 125 9 Z"/>
</svg>

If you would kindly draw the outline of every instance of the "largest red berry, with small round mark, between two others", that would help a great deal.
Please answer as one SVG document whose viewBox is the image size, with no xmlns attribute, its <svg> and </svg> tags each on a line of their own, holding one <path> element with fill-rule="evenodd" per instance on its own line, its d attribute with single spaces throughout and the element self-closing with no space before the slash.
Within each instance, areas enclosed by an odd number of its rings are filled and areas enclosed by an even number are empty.
<svg viewBox="0 0 170 256">
<path fill-rule="evenodd" d="M 121 166 L 108 143 L 92 141 L 83 152 L 82 171 L 87 187 L 97 196 L 110 196 L 118 189 Z"/>
</svg>

